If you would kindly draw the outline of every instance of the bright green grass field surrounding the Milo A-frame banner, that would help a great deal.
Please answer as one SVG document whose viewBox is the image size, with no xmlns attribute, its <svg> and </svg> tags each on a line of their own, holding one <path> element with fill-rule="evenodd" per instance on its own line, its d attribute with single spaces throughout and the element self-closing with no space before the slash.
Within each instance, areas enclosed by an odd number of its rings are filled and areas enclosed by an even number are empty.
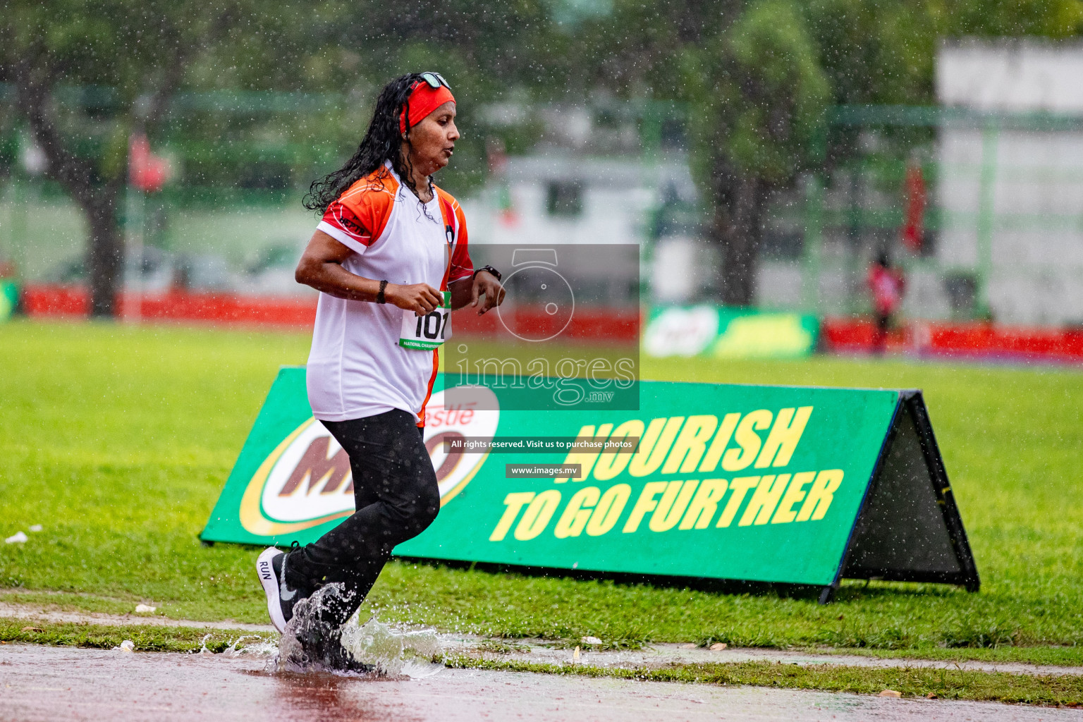
<svg viewBox="0 0 1083 722">
<path fill-rule="evenodd" d="M 303 333 L 96 324 L 0 326 L 0 602 L 101 612 L 153 602 L 265 621 L 252 549 L 196 535 Z M 1083 665 L 1083 373 L 813 358 L 643 360 L 644 378 L 925 390 L 982 578 L 847 582 L 835 604 L 392 563 L 384 620 L 491 635 L 812 646 Z"/>
</svg>

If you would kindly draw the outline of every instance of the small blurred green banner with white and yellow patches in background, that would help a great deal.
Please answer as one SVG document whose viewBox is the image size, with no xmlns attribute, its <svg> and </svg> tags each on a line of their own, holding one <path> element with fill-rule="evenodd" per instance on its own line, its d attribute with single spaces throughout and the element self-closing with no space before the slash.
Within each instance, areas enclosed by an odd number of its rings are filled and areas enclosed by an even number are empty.
<svg viewBox="0 0 1083 722">
<path fill-rule="evenodd" d="M 799 313 L 715 305 L 651 310 L 643 351 L 651 356 L 801 358 L 815 350 L 820 321 Z"/>
</svg>

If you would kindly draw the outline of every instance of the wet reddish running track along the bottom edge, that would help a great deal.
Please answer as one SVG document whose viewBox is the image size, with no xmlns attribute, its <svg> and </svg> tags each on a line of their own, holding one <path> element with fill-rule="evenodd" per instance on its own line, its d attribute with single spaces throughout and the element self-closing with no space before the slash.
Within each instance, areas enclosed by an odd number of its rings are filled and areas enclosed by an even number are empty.
<svg viewBox="0 0 1083 722">
<path fill-rule="evenodd" d="M 270 674 L 265 658 L 0 646 L 0 721 L 1020 720 L 1083 712 L 984 703 L 443 669 L 403 681 Z"/>
</svg>

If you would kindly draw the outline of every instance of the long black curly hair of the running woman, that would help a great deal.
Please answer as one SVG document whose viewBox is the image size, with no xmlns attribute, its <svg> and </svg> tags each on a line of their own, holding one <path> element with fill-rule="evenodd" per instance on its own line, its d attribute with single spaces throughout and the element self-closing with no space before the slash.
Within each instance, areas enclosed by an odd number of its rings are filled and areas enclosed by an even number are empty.
<svg viewBox="0 0 1083 722">
<path fill-rule="evenodd" d="M 391 161 L 402 182 L 418 195 L 414 184 L 409 158 L 402 153 L 402 134 L 399 132 L 399 117 L 403 109 L 409 117 L 410 87 L 423 80 L 420 73 L 407 73 L 389 82 L 376 99 L 373 119 L 368 122 L 365 137 L 357 146 L 356 153 L 345 166 L 312 182 L 304 195 L 302 205 L 310 211 L 323 214 L 343 191 L 376 170 L 383 169 L 383 162 Z M 409 128 L 406 129 L 405 143 L 409 145 Z M 383 169 L 387 173 L 387 170 Z M 431 185 L 432 181 L 430 181 Z"/>
</svg>

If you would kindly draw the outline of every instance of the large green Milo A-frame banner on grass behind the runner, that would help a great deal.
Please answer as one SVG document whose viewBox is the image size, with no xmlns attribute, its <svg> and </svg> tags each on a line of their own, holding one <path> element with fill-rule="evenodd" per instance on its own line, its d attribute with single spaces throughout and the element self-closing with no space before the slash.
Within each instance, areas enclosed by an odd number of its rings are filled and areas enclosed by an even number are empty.
<svg viewBox="0 0 1083 722">
<path fill-rule="evenodd" d="M 442 508 L 395 554 L 814 585 L 823 601 L 843 576 L 977 589 L 919 392 L 640 384 L 639 411 L 506 410 L 499 389 L 444 408 L 433 394 Z M 595 444 L 566 450 L 573 438 Z M 599 444 L 624 438 L 634 454 Z M 557 464 L 579 473 L 544 477 Z M 352 513 L 349 459 L 312 417 L 304 369 L 283 368 L 201 538 L 306 543 Z"/>
</svg>

